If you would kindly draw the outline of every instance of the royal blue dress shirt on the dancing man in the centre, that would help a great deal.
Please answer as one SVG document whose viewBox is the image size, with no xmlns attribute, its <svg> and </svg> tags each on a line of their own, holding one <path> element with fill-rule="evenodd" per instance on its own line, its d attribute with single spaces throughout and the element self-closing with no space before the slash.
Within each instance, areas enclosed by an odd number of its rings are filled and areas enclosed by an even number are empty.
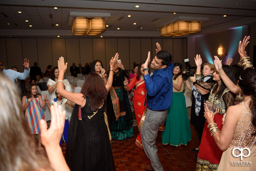
<svg viewBox="0 0 256 171">
<path fill-rule="evenodd" d="M 164 110 L 170 107 L 173 95 L 173 69 L 174 64 L 171 63 L 166 68 L 155 70 L 151 78 L 150 74 L 144 76 L 148 108 Z"/>
</svg>

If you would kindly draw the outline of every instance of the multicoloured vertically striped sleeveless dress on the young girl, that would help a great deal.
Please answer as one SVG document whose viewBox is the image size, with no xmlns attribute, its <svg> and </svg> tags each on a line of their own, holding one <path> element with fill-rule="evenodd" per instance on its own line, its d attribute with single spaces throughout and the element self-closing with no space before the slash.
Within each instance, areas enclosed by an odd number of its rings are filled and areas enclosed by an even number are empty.
<svg viewBox="0 0 256 171">
<path fill-rule="evenodd" d="M 26 103 L 28 102 L 28 98 L 26 98 Z M 26 120 L 28 123 L 28 126 L 30 127 L 31 134 L 40 134 L 40 127 L 39 122 L 41 119 L 45 120 L 44 111 L 40 106 L 39 99 L 36 98 L 36 100 L 32 100 L 26 111 Z"/>
</svg>

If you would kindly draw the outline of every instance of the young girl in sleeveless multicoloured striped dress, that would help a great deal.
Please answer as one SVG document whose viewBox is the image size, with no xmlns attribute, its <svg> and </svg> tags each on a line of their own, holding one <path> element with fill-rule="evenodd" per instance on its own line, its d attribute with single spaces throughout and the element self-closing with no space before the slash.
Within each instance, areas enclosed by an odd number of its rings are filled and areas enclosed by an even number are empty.
<svg viewBox="0 0 256 171">
<path fill-rule="evenodd" d="M 35 84 L 29 84 L 26 87 L 26 93 L 22 98 L 22 110 L 25 110 L 26 120 L 30 127 L 30 133 L 37 135 L 38 148 L 42 150 L 39 121 L 45 119 L 44 111 L 47 95 L 42 96 L 37 93 Z"/>
</svg>

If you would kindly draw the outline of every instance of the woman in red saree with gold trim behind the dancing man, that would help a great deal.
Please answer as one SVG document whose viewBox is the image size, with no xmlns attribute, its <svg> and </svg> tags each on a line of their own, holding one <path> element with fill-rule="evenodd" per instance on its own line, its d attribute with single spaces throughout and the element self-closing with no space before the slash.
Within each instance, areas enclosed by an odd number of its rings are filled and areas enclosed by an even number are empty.
<svg viewBox="0 0 256 171">
<path fill-rule="evenodd" d="M 138 66 L 138 72 L 135 78 L 131 80 L 131 82 L 128 85 L 128 80 L 124 81 L 124 88 L 125 90 L 129 91 L 135 86 L 134 95 L 133 95 L 133 106 L 134 106 L 134 112 L 138 124 L 139 132 L 141 132 L 141 127 L 144 122 L 144 118 L 147 112 L 147 104 L 144 106 L 144 100 L 147 94 L 147 90 L 145 87 L 144 82 L 144 71 L 142 64 L 144 62 L 141 62 Z M 141 142 L 141 133 L 136 137 L 135 142 L 140 148 L 143 149 L 142 142 Z"/>
</svg>

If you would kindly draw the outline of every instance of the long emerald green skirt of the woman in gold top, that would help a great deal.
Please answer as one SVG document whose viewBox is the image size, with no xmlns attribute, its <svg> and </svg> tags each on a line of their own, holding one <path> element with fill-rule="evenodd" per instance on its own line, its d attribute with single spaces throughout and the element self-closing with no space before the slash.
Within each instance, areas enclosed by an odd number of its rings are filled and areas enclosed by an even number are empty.
<svg viewBox="0 0 256 171">
<path fill-rule="evenodd" d="M 167 112 L 162 143 L 170 143 L 174 146 L 187 145 L 191 140 L 191 131 L 183 92 L 173 92 L 172 102 Z"/>
</svg>

